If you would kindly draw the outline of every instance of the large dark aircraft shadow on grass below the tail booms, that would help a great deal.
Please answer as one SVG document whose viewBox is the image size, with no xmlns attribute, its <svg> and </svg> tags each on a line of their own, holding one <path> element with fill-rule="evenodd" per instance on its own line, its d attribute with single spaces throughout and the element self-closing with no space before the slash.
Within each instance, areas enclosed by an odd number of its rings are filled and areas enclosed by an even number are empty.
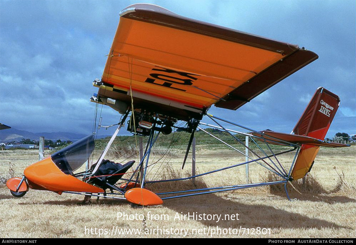
<svg viewBox="0 0 356 245">
<path fill-rule="evenodd" d="M 212 206 L 209 205 L 209 200 L 215 200 L 214 203 L 219 203 L 219 205 Z M 231 195 L 230 195 L 231 198 Z M 268 197 L 270 198 L 270 197 Z M 266 198 L 266 202 L 267 199 Z M 286 199 L 286 202 L 288 200 Z M 184 207 L 183 205 L 184 204 Z M 207 208 L 204 205 L 207 204 Z M 217 214 L 221 215 L 224 219 L 225 215 L 239 214 L 239 220 L 198 220 L 200 223 L 206 226 L 219 226 L 220 228 L 232 228 L 238 229 L 240 226 L 242 228 L 284 228 L 284 229 L 310 229 L 310 228 L 350 228 L 347 226 L 340 226 L 336 223 L 326 221 L 318 218 L 310 218 L 303 216 L 298 213 L 288 212 L 286 210 L 277 209 L 271 205 L 262 204 L 245 204 L 239 202 L 238 194 L 236 197 L 227 200 L 225 198 L 217 197 L 214 194 L 207 194 L 205 196 L 193 197 L 191 199 L 184 200 L 182 202 L 174 202 L 173 200 L 168 200 L 165 207 L 173 209 L 178 213 L 192 214 L 197 212 L 197 214 Z M 189 210 L 185 207 L 189 207 Z M 229 208 L 225 208 L 229 207 Z M 318 211 L 315 211 L 318 212 Z"/>
</svg>

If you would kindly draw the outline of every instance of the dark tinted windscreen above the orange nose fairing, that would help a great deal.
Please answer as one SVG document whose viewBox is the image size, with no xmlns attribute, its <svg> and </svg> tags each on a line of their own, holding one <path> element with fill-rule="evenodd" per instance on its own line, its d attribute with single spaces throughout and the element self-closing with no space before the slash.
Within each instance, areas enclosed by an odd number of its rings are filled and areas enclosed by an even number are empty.
<svg viewBox="0 0 356 245">
<path fill-rule="evenodd" d="M 52 161 L 66 174 L 73 174 L 90 157 L 94 150 L 94 134 L 57 151 L 51 155 Z"/>
</svg>

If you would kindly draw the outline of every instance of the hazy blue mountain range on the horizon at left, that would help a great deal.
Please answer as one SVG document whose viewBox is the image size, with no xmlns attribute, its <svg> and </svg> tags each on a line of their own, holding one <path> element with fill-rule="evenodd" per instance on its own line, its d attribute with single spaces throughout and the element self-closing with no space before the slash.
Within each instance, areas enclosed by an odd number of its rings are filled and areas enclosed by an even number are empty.
<svg viewBox="0 0 356 245">
<path fill-rule="evenodd" d="M 0 142 L 6 143 L 11 141 L 21 141 L 22 139 L 30 139 L 30 140 L 39 140 L 40 136 L 44 136 L 47 140 L 79 140 L 83 137 L 87 136 L 85 134 L 75 134 L 70 132 L 41 132 L 41 133 L 32 133 L 26 130 L 18 130 L 18 129 L 4 129 L 0 131 Z M 105 136 L 100 136 L 105 137 Z"/>
</svg>

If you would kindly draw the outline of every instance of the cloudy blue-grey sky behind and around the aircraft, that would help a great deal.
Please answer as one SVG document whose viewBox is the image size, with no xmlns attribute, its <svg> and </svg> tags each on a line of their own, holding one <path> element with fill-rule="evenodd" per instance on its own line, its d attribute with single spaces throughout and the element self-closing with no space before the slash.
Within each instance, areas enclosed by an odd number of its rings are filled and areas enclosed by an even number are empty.
<svg viewBox="0 0 356 245">
<path fill-rule="evenodd" d="M 95 110 L 89 98 L 97 92 L 91 82 L 103 73 L 119 12 L 137 2 L 0 0 L 1 123 L 89 134 Z M 211 114 L 256 130 L 290 132 L 322 86 L 341 98 L 327 137 L 356 133 L 356 1 L 145 2 L 319 55 L 237 111 L 213 107 Z M 119 120 L 109 107 L 102 116 L 103 125 Z"/>
</svg>

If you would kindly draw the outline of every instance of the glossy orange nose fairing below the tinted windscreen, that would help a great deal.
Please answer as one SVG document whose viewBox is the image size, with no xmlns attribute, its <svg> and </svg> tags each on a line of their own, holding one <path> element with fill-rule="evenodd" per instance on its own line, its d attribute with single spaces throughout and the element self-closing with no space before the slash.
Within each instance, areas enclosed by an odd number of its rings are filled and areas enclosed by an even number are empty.
<svg viewBox="0 0 356 245">
<path fill-rule="evenodd" d="M 23 173 L 28 180 L 49 191 L 104 192 L 103 189 L 63 173 L 56 164 L 54 164 L 51 157 L 33 163 L 28 166 Z"/>
</svg>

